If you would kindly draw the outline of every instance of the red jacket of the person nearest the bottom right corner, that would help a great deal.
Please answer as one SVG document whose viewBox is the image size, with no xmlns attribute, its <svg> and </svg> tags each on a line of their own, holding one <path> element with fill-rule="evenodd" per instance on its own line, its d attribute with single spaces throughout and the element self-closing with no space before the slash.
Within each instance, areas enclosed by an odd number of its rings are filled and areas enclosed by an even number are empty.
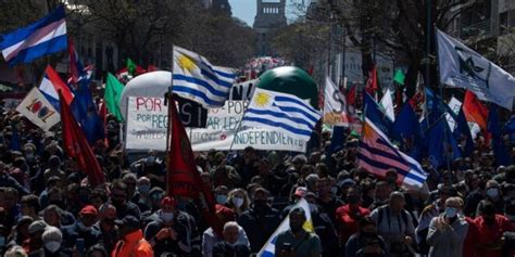
<svg viewBox="0 0 515 257">
<path fill-rule="evenodd" d="M 502 215 L 495 215 L 495 221 L 492 226 L 487 226 L 482 216 L 477 217 L 474 221 L 479 232 L 477 256 L 501 257 L 502 247 L 495 245 L 495 243 L 501 240 L 504 232 L 513 230 L 512 222 Z M 465 248 L 470 247 L 467 244 L 464 246 Z"/>
</svg>

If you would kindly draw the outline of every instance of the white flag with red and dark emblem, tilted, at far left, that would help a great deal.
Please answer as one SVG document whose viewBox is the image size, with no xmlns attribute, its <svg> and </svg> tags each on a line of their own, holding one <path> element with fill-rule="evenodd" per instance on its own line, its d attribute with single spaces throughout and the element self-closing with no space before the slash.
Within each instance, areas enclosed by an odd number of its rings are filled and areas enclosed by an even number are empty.
<svg viewBox="0 0 515 257">
<path fill-rule="evenodd" d="M 36 87 L 17 105 L 16 112 L 23 114 L 30 123 L 45 131 L 48 131 L 61 120 L 59 112 Z"/>
</svg>

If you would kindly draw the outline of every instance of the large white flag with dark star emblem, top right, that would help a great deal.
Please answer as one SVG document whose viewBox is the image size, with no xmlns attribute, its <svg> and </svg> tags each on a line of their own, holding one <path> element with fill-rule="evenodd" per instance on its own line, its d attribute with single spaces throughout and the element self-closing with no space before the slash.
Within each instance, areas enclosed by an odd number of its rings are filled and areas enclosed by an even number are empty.
<svg viewBox="0 0 515 257">
<path fill-rule="evenodd" d="M 512 110 L 515 78 L 506 70 L 437 29 L 440 82 L 472 90 L 480 100 Z"/>
</svg>

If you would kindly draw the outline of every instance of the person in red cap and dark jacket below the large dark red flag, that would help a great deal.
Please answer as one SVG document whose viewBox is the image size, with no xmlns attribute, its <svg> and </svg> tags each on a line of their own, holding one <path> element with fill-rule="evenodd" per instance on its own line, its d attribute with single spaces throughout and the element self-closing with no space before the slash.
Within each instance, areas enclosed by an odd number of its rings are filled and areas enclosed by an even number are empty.
<svg viewBox="0 0 515 257">
<path fill-rule="evenodd" d="M 152 245 L 155 256 L 175 253 L 178 256 L 201 256 L 201 237 L 197 222 L 177 208 L 177 201 L 166 196 L 161 201 L 156 220 L 147 224 L 145 239 Z"/>
</svg>

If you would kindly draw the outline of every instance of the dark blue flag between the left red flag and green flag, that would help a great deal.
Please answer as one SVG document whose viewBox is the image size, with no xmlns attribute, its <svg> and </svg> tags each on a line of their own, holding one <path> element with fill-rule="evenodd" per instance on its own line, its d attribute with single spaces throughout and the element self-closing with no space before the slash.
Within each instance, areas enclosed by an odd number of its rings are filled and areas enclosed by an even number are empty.
<svg viewBox="0 0 515 257">
<path fill-rule="evenodd" d="M 80 128 L 92 145 L 100 139 L 104 139 L 104 126 L 97 112 L 91 92 L 89 91 L 89 79 L 81 79 L 74 91 L 75 98 L 70 106 L 75 119 L 80 124 Z"/>
</svg>

